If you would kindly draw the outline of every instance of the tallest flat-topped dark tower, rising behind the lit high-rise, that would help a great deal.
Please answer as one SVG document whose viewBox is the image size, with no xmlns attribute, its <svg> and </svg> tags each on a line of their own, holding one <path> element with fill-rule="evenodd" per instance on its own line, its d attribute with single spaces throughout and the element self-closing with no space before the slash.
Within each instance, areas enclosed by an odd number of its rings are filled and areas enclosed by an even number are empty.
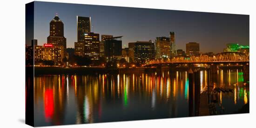
<svg viewBox="0 0 256 128">
<path fill-rule="evenodd" d="M 77 42 L 83 42 L 85 34 L 91 32 L 91 17 L 76 16 Z"/>
</svg>

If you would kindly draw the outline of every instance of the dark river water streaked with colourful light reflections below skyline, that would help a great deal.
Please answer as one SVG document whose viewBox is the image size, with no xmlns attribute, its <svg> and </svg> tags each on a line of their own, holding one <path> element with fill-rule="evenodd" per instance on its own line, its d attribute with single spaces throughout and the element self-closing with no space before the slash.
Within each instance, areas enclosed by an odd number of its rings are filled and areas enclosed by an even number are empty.
<svg viewBox="0 0 256 128">
<path fill-rule="evenodd" d="M 219 70 L 211 76 L 220 93 L 223 114 L 249 102 L 242 70 Z M 156 119 L 189 116 L 187 71 L 142 74 L 44 75 L 35 77 L 36 126 Z M 207 70 L 200 71 L 200 90 L 208 84 Z M 214 78 L 216 77 L 216 79 Z"/>
</svg>

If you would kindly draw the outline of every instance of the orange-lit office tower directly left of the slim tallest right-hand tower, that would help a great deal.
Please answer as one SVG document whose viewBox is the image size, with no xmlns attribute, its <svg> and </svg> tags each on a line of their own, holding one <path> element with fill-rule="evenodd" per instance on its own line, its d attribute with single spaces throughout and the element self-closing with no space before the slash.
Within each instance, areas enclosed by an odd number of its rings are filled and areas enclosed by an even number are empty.
<svg viewBox="0 0 256 128">
<path fill-rule="evenodd" d="M 170 38 L 157 37 L 155 40 L 156 59 L 171 56 Z"/>
</svg>

